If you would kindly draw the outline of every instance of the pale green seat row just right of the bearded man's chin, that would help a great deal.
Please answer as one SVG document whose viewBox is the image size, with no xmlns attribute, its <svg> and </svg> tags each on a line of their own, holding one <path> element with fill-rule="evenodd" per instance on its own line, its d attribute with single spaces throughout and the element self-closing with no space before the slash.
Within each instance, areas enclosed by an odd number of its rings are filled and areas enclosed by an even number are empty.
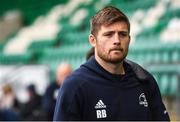
<svg viewBox="0 0 180 122">
<path fill-rule="evenodd" d="M 169 43 L 136 43 L 130 47 L 128 58 L 142 65 L 178 63 L 180 61 L 180 46 Z"/>
</svg>

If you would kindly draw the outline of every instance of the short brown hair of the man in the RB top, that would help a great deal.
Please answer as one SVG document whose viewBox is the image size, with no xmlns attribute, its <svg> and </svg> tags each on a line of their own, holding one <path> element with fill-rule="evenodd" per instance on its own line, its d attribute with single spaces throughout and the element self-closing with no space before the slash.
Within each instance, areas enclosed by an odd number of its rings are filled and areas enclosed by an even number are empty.
<svg viewBox="0 0 180 122">
<path fill-rule="evenodd" d="M 120 11 L 118 8 L 113 6 L 107 6 L 100 11 L 98 11 L 90 21 L 90 31 L 94 36 L 97 35 L 100 27 L 102 25 L 108 26 L 115 22 L 126 22 L 128 26 L 128 31 L 130 32 L 130 22 L 128 17 Z"/>
</svg>

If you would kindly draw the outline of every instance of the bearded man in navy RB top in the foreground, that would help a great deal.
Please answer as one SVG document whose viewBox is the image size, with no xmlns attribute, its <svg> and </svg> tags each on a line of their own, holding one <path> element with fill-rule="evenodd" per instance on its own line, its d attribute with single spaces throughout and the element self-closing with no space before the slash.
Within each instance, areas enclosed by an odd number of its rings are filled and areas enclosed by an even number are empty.
<svg viewBox="0 0 180 122">
<path fill-rule="evenodd" d="M 169 120 L 156 81 L 126 60 L 130 23 L 108 6 L 91 20 L 94 56 L 62 85 L 54 120 Z"/>
</svg>

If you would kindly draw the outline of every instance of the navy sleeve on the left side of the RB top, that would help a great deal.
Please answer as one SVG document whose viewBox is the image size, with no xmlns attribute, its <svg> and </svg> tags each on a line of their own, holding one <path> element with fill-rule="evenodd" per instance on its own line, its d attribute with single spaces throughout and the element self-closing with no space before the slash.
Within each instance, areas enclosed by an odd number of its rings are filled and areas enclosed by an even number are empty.
<svg viewBox="0 0 180 122">
<path fill-rule="evenodd" d="M 76 81 L 68 78 L 59 89 L 53 121 L 80 120 Z"/>
</svg>

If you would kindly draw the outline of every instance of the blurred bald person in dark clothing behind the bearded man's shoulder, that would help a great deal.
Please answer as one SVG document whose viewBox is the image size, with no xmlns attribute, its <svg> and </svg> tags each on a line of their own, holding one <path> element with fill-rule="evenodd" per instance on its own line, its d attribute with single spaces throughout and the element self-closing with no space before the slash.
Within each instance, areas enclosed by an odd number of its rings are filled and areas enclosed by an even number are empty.
<svg viewBox="0 0 180 122">
<path fill-rule="evenodd" d="M 53 120 L 54 108 L 56 104 L 56 98 L 58 89 L 63 83 L 64 79 L 72 72 L 71 65 L 68 63 L 61 63 L 56 71 L 56 81 L 52 82 L 45 92 L 43 97 L 43 109 L 45 110 L 45 118 L 47 120 Z"/>
</svg>

